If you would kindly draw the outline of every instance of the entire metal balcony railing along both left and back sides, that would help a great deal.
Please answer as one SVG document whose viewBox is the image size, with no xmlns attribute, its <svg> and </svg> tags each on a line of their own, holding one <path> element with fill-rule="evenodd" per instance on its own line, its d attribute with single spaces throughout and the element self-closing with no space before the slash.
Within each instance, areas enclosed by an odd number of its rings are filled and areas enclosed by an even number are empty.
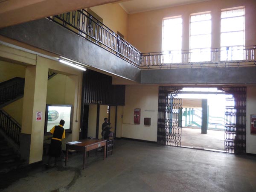
<svg viewBox="0 0 256 192">
<path fill-rule="evenodd" d="M 256 46 L 141 53 L 86 10 L 48 17 L 140 69 L 256 66 Z"/>
</svg>

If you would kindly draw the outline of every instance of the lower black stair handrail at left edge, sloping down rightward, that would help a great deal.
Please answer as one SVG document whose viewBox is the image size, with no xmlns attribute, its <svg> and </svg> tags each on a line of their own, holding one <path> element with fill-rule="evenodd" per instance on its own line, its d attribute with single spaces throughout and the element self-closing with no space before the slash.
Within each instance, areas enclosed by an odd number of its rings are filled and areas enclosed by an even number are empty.
<svg viewBox="0 0 256 192">
<path fill-rule="evenodd" d="M 0 109 L 0 128 L 14 140 L 15 143 L 20 145 L 20 124 L 12 118 L 6 111 Z"/>
</svg>

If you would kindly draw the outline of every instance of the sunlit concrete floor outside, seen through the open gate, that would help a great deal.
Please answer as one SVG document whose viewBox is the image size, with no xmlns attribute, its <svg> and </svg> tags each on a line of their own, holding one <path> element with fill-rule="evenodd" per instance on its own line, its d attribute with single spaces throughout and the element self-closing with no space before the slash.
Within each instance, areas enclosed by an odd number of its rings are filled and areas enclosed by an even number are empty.
<svg viewBox="0 0 256 192">
<path fill-rule="evenodd" d="M 201 129 L 183 127 L 181 145 L 224 151 L 224 133 L 225 131 L 207 130 L 207 134 L 201 134 Z"/>
</svg>

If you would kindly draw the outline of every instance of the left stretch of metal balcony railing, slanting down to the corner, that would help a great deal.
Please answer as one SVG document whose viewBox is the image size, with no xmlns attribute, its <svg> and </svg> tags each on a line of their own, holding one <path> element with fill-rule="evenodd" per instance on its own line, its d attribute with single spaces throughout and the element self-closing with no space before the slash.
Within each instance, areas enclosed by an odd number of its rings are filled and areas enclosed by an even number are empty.
<svg viewBox="0 0 256 192">
<path fill-rule="evenodd" d="M 134 66 L 140 67 L 141 52 L 86 10 L 63 13 L 48 19 L 105 48 Z"/>
</svg>

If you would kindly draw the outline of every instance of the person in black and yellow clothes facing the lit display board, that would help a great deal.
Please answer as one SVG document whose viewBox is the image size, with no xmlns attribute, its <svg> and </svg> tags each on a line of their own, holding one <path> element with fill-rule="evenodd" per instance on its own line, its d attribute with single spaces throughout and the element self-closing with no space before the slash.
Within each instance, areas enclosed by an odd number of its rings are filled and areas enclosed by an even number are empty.
<svg viewBox="0 0 256 192">
<path fill-rule="evenodd" d="M 52 140 L 49 146 L 49 153 L 48 153 L 49 158 L 46 164 L 47 167 L 49 167 L 52 157 L 55 157 L 54 166 L 57 166 L 58 157 L 61 156 L 61 152 L 62 152 L 61 140 L 65 138 L 65 130 L 63 128 L 64 124 L 65 124 L 65 121 L 61 119 L 60 125 L 56 125 L 50 130 L 50 133 L 52 134 Z"/>
</svg>

